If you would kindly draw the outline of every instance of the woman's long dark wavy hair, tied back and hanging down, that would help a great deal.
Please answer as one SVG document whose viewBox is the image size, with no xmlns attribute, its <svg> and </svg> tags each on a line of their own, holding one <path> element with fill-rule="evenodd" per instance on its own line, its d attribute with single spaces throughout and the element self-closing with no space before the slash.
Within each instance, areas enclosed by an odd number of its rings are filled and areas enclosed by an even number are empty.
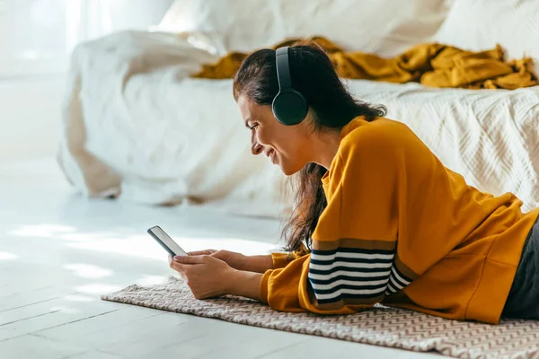
<svg viewBox="0 0 539 359">
<path fill-rule="evenodd" d="M 243 60 L 234 75 L 234 99 L 246 95 L 258 105 L 271 105 L 278 93 L 275 50 L 265 48 Z M 335 72 L 330 58 L 316 45 L 295 45 L 288 55 L 294 89 L 301 92 L 313 110 L 314 131 L 340 130 L 353 118 L 365 116 L 367 121 L 385 115 L 382 105 L 358 101 L 347 90 Z M 320 215 L 327 206 L 322 187 L 323 166 L 310 162 L 299 172 L 296 183 L 294 212 L 282 236 L 288 251 L 311 249 L 311 236 Z"/>
</svg>

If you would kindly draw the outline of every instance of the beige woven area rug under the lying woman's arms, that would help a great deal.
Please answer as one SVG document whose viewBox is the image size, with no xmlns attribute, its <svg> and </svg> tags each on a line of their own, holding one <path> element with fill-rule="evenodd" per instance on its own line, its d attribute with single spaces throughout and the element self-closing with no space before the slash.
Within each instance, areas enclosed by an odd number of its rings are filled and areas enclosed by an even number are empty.
<svg viewBox="0 0 539 359">
<path fill-rule="evenodd" d="M 102 295 L 102 300 L 458 358 L 539 358 L 539 321 L 502 320 L 488 325 L 383 306 L 342 316 L 283 313 L 234 296 L 196 300 L 189 287 L 173 276 L 161 285 L 130 285 Z"/>
</svg>

